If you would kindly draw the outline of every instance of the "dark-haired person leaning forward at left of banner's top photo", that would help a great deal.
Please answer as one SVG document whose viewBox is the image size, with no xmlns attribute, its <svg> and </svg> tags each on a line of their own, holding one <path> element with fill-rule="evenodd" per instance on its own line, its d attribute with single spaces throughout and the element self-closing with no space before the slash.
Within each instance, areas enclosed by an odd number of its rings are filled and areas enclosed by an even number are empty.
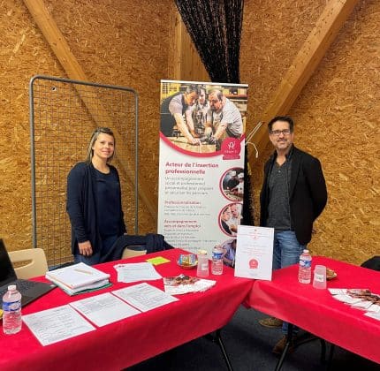
<svg viewBox="0 0 380 371">
<path fill-rule="evenodd" d="M 199 87 L 189 85 L 184 93 L 176 93 L 161 103 L 161 133 L 166 137 L 173 135 L 175 126 L 186 138 L 187 142 L 199 145 L 200 140 L 194 132 L 192 106 L 198 99 Z M 185 118 L 186 121 L 185 121 Z"/>
</svg>

